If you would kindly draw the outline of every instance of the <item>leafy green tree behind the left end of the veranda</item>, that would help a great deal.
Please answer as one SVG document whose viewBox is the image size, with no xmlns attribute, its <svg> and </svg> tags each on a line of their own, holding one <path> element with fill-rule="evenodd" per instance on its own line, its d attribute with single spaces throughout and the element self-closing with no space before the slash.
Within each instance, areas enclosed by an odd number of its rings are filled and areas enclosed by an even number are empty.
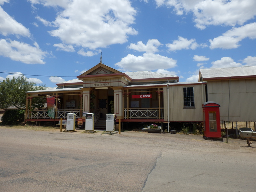
<svg viewBox="0 0 256 192">
<path fill-rule="evenodd" d="M 18 109 L 26 108 L 26 92 L 47 89 L 45 85 L 36 86 L 25 76 L 12 79 L 6 78 L 0 82 L 0 108 L 5 109 L 14 106 Z M 33 98 L 32 108 L 42 108 L 45 98 Z"/>
</svg>

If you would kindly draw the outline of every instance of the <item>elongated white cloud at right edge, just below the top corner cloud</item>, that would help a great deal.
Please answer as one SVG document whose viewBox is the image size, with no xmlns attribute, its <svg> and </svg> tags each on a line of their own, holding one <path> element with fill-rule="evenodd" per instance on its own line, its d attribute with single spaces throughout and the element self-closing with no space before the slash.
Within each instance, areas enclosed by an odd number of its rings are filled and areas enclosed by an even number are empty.
<svg viewBox="0 0 256 192">
<path fill-rule="evenodd" d="M 221 36 L 215 37 L 213 40 L 210 39 L 210 49 L 237 48 L 240 46 L 240 44 L 238 43 L 246 37 L 249 37 L 251 39 L 256 38 L 256 23 L 250 23 L 239 28 L 232 28 Z"/>
</svg>

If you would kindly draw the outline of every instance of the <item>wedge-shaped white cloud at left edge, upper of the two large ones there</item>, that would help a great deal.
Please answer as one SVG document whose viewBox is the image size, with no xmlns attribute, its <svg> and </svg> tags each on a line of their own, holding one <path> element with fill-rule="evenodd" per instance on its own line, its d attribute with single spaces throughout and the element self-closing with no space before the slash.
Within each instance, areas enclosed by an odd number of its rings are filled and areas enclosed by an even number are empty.
<svg viewBox="0 0 256 192">
<path fill-rule="evenodd" d="M 6 2 L 6 1 L 5 1 Z M 18 23 L 0 7 L 0 34 L 30 36 L 29 30 L 21 23 Z"/>
</svg>

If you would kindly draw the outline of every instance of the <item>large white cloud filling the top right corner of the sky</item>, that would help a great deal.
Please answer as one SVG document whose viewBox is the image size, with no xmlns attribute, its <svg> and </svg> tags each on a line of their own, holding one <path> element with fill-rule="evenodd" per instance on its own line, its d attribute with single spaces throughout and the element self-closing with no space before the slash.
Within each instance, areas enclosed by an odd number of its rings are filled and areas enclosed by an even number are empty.
<svg viewBox="0 0 256 192">
<path fill-rule="evenodd" d="M 193 12 L 196 27 L 243 25 L 256 15 L 255 0 L 155 0 L 157 6 L 172 7 L 177 15 Z"/>
</svg>

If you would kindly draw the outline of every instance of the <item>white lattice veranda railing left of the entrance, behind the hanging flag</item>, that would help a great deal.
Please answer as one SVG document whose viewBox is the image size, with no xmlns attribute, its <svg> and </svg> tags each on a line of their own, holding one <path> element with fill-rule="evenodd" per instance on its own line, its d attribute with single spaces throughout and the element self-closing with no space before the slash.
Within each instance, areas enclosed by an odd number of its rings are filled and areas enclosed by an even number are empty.
<svg viewBox="0 0 256 192">
<path fill-rule="evenodd" d="M 68 113 L 75 113 L 76 118 L 80 117 L 80 109 L 58 109 L 55 119 L 67 118 Z M 28 111 L 28 119 L 50 119 L 48 110 Z"/>
</svg>

